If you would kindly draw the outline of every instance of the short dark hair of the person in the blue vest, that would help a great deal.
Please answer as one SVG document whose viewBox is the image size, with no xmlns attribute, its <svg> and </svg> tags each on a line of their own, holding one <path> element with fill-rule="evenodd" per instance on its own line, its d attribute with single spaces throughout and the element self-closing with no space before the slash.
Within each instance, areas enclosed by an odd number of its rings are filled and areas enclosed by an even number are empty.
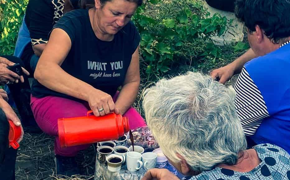
<svg viewBox="0 0 290 180">
<path fill-rule="evenodd" d="M 290 0 L 236 0 L 235 13 L 250 33 L 259 25 L 273 43 L 290 36 Z"/>
</svg>

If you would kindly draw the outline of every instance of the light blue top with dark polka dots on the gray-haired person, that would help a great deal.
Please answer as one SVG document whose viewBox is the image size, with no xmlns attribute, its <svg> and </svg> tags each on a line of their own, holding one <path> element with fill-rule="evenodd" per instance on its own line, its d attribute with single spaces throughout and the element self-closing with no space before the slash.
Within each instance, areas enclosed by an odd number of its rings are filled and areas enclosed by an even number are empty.
<svg viewBox="0 0 290 180">
<path fill-rule="evenodd" d="M 211 171 L 203 171 L 190 180 L 289 180 L 290 156 L 278 146 L 260 144 L 254 147 L 262 161 L 250 172 L 241 173 L 224 168 L 215 168 Z"/>
</svg>

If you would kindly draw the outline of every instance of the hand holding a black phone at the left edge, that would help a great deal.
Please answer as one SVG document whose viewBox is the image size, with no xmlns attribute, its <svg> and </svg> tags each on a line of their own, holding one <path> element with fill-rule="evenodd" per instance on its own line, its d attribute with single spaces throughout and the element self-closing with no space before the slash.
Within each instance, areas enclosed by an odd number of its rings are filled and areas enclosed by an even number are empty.
<svg viewBox="0 0 290 180">
<path fill-rule="evenodd" d="M 5 85 L 5 83 L 18 83 L 19 79 L 23 83 L 24 78 L 23 76 L 19 76 L 18 74 L 14 73 L 13 71 L 9 70 L 7 66 L 12 66 L 15 63 L 9 61 L 4 57 L 0 57 L 0 84 Z M 29 75 L 29 72 L 22 67 L 23 73 Z"/>
</svg>

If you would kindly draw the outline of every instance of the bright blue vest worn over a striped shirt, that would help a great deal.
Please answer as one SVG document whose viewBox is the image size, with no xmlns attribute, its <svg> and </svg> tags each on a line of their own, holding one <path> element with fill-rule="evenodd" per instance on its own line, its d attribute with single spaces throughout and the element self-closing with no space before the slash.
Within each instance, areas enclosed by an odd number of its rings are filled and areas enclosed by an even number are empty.
<svg viewBox="0 0 290 180">
<path fill-rule="evenodd" d="M 290 44 L 246 63 L 245 68 L 259 88 L 269 117 L 263 119 L 251 139 L 270 143 L 290 152 Z"/>
</svg>

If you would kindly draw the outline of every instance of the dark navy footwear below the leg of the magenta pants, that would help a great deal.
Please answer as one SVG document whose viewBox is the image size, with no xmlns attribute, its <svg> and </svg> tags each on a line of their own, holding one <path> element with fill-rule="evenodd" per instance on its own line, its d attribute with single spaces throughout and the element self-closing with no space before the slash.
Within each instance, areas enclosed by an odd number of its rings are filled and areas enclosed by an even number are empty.
<svg viewBox="0 0 290 180">
<path fill-rule="evenodd" d="M 74 157 L 55 155 L 56 174 L 71 177 L 80 174 Z"/>
</svg>

